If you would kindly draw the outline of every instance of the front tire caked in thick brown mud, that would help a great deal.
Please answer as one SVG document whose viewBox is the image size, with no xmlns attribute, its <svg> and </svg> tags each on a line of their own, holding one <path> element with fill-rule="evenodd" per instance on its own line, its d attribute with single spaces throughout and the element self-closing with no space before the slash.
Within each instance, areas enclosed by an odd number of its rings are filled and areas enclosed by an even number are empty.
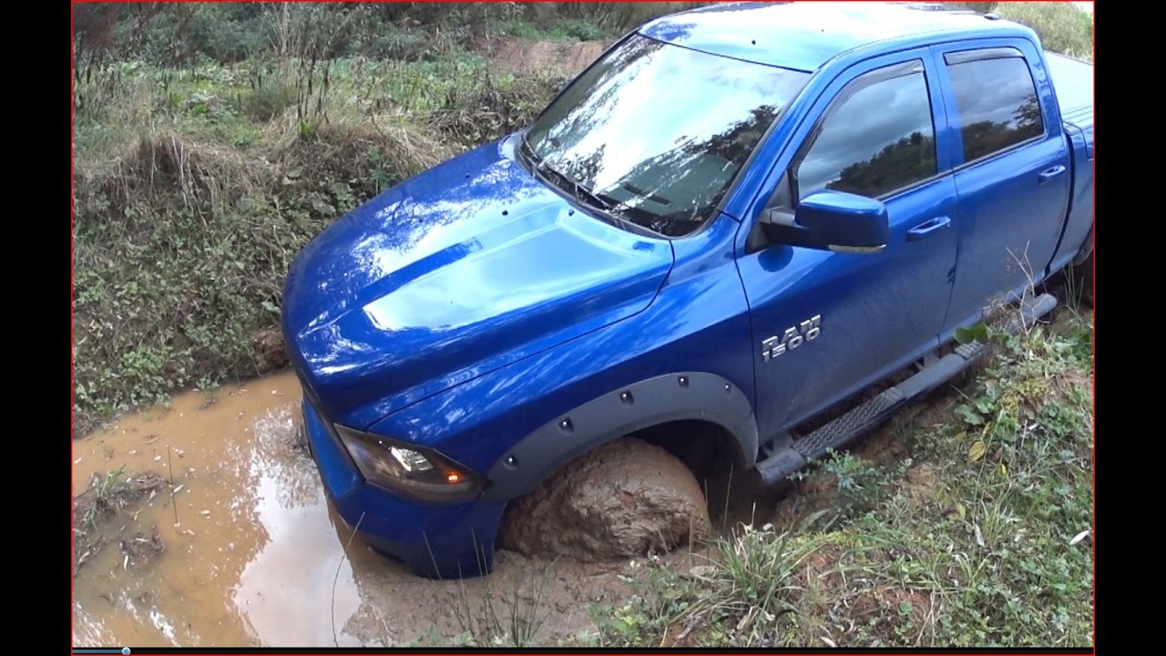
<svg viewBox="0 0 1166 656">
<path fill-rule="evenodd" d="M 623 438 L 511 502 L 498 546 L 602 561 L 662 553 L 709 529 L 704 494 L 688 467 L 659 446 Z"/>
</svg>

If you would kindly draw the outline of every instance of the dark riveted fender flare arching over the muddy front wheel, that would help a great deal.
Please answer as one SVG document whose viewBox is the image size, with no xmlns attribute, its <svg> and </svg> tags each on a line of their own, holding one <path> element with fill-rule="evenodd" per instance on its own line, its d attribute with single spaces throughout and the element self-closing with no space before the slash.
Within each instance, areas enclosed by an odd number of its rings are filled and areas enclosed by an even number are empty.
<svg viewBox="0 0 1166 656">
<path fill-rule="evenodd" d="M 757 463 L 757 420 L 745 393 L 722 376 L 681 371 L 611 390 L 543 424 L 490 467 L 482 498 L 515 498 L 592 448 L 683 419 L 721 426 L 738 447 L 737 463 L 745 469 Z"/>
</svg>

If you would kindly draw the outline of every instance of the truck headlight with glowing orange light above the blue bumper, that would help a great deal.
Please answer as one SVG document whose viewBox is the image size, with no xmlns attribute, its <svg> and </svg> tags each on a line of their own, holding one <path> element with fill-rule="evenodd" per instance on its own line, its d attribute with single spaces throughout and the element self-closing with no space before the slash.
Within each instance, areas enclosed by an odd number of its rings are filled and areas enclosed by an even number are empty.
<svg viewBox="0 0 1166 656">
<path fill-rule="evenodd" d="M 433 449 L 336 426 L 365 480 L 406 496 L 434 502 L 469 498 L 482 480 Z"/>
</svg>

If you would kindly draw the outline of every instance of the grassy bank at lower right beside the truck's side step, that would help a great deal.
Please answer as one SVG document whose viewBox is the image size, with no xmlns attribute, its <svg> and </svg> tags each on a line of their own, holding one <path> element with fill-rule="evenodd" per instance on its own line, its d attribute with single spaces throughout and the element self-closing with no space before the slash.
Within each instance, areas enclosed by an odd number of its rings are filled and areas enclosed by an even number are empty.
<svg viewBox="0 0 1166 656">
<path fill-rule="evenodd" d="M 626 605 L 592 608 L 588 642 L 1089 647 L 1091 547 L 1072 543 L 1093 516 L 1091 335 L 1074 315 L 996 336 L 974 384 L 883 437 L 906 458 L 834 454 L 780 528 L 655 565 Z"/>
</svg>

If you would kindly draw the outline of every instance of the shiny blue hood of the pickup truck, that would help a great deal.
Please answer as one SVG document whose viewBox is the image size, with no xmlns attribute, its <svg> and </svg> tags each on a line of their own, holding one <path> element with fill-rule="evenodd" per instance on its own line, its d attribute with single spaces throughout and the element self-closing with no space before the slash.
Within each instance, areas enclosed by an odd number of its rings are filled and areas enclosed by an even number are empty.
<svg viewBox="0 0 1166 656">
<path fill-rule="evenodd" d="M 410 403 L 635 314 L 666 239 L 574 209 L 487 145 L 380 194 L 293 263 L 283 333 L 329 419 L 366 427 Z"/>
</svg>

